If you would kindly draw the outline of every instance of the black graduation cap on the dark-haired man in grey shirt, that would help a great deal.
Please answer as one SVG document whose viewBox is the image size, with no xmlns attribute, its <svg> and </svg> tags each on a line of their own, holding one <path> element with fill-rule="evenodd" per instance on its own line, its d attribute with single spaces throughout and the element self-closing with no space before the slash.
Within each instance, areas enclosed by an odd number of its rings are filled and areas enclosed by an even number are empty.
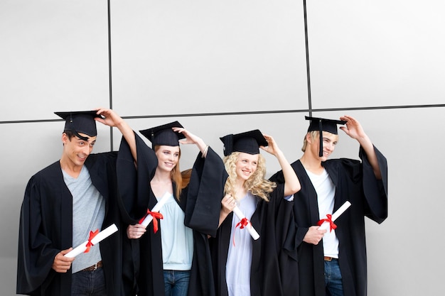
<svg viewBox="0 0 445 296">
<path fill-rule="evenodd" d="M 65 119 L 65 129 L 63 131 L 71 131 L 84 141 L 88 141 L 88 137 L 80 136 L 79 133 L 85 133 L 90 137 L 97 136 L 95 117 L 101 117 L 97 111 L 68 111 L 54 112 L 61 118 Z"/>
</svg>

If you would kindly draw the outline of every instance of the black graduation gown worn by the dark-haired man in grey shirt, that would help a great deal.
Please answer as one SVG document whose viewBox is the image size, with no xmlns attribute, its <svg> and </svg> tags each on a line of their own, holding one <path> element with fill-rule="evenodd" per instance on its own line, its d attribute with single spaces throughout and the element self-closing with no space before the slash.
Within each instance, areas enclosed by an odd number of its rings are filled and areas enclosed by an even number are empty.
<svg viewBox="0 0 445 296">
<path fill-rule="evenodd" d="M 112 224 L 118 228 L 116 233 L 100 242 L 107 295 L 124 295 L 120 278 L 125 231 L 117 202 L 117 156 L 117 152 L 96 153 L 85 160 L 92 184 L 105 199 L 102 229 Z M 51 266 L 60 250 L 73 246 L 72 221 L 73 197 L 63 181 L 60 163 L 55 162 L 33 175 L 26 187 L 18 236 L 18 294 L 70 295 L 71 270 L 56 273 Z"/>
</svg>

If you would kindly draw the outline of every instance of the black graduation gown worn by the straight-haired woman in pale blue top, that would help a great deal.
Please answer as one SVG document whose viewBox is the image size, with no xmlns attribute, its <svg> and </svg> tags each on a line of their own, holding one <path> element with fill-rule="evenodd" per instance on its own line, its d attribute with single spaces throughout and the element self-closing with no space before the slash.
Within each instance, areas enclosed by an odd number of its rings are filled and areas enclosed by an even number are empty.
<svg viewBox="0 0 445 296">
<path fill-rule="evenodd" d="M 150 180 L 154 176 L 157 158 L 148 146 L 138 146 L 137 192 L 123 198 L 124 210 L 131 224 L 135 224 L 145 214 L 147 207 L 153 209 L 157 200 L 150 188 Z M 215 235 L 218 228 L 222 196 L 209 194 L 215 186 L 220 185 L 222 177 L 219 156 L 209 147 L 206 158 L 199 153 L 192 169 L 188 187 L 181 192 L 180 202 L 176 202 L 185 212 L 184 224 L 193 229 L 193 261 L 188 295 L 213 296 L 214 285 L 210 260 L 210 249 L 207 235 Z M 127 191 L 126 191 L 127 192 Z M 173 184 L 176 192 L 176 184 Z M 162 213 L 162 209 L 160 210 Z M 134 258 L 134 274 L 136 289 L 132 295 L 163 296 L 163 262 L 161 246 L 161 225 L 154 234 L 153 223 L 140 239 L 129 240 Z"/>
</svg>

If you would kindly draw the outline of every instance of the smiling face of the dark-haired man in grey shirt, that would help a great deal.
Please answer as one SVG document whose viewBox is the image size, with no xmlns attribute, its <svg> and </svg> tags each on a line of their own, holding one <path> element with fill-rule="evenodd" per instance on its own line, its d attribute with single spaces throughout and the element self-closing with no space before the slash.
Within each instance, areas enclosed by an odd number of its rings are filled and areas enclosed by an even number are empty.
<svg viewBox="0 0 445 296">
<path fill-rule="evenodd" d="M 96 143 L 96 136 L 90 137 L 85 133 L 79 134 L 80 136 L 87 137 L 87 141 L 82 140 L 77 136 L 69 138 L 66 133 L 62 134 L 63 155 L 60 161 L 70 167 L 82 166 Z"/>
</svg>

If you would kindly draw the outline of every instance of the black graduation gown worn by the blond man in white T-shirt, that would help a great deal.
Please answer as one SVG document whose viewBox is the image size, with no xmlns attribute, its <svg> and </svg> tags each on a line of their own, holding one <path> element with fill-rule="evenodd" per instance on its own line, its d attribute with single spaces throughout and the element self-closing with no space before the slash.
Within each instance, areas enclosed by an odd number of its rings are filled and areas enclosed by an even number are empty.
<svg viewBox="0 0 445 296">
<path fill-rule="evenodd" d="M 360 148 L 359 160 L 347 158 L 327 160 L 322 165 L 336 185 L 334 212 L 349 201 L 351 206 L 334 222 L 338 227 L 338 263 L 343 277 L 345 296 L 367 294 L 367 263 L 365 244 L 365 216 L 382 223 L 387 218 L 387 161 L 375 148 L 382 180 L 377 180 L 367 156 Z M 313 245 L 303 241 L 310 226 L 319 220 L 317 195 L 301 162 L 291 164 L 298 175 L 301 190 L 294 194 L 299 258 L 299 286 L 301 296 L 325 296 L 323 243 Z M 271 180 L 282 182 L 282 172 Z"/>
</svg>

